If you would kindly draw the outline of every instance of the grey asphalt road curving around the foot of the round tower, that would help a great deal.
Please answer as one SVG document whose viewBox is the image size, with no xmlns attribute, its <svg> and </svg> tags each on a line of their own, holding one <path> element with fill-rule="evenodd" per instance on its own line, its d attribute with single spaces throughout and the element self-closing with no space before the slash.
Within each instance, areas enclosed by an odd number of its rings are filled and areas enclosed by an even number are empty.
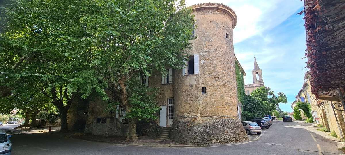
<svg viewBox="0 0 345 155">
<path fill-rule="evenodd" d="M 9 131 L 11 132 L 11 131 Z M 89 142 L 46 133 L 16 134 L 12 155 L 335 155 L 336 143 L 296 122 L 275 121 L 255 141 L 230 146 L 162 148 Z M 270 143 L 270 144 L 268 144 Z"/>
</svg>

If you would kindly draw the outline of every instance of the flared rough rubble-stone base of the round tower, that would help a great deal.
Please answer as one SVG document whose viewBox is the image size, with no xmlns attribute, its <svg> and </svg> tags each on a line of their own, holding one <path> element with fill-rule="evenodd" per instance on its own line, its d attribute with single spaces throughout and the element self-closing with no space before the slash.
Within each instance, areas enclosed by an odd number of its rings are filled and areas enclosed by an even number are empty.
<svg viewBox="0 0 345 155">
<path fill-rule="evenodd" d="M 248 140 L 239 120 L 221 118 L 174 119 L 171 140 L 187 145 L 235 143 Z"/>
</svg>

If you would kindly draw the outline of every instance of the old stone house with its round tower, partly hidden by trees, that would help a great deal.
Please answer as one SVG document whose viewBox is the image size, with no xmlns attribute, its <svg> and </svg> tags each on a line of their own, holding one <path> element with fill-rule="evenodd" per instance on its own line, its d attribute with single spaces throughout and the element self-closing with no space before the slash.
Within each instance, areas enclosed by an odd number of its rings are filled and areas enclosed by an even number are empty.
<svg viewBox="0 0 345 155">
<path fill-rule="evenodd" d="M 143 125 L 150 129 L 137 126 L 137 132 L 143 132 L 138 128 L 156 132 L 151 126 L 159 126 L 170 129 L 171 140 L 196 145 L 248 140 L 240 121 L 242 105 L 237 93 L 243 91 L 245 73 L 234 54 L 236 14 L 218 3 L 191 8 L 197 25 L 193 34 L 197 37 L 190 41 L 193 48 L 186 51 L 186 68 L 166 67 L 166 76 L 154 71 L 150 77 L 141 75 L 138 79 L 148 87 L 159 88 L 157 103 L 161 110 L 158 120 Z M 126 112 L 121 107 L 105 111 L 107 103 L 101 99 L 88 105 L 86 133 L 125 135 Z"/>
</svg>

